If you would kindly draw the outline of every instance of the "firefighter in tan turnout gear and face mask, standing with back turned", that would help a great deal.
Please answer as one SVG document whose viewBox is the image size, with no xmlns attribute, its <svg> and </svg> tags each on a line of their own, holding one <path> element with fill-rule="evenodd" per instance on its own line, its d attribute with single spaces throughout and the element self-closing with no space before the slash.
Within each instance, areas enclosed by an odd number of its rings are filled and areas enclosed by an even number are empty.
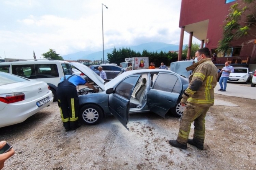
<svg viewBox="0 0 256 170">
<path fill-rule="evenodd" d="M 173 147 L 187 149 L 187 143 L 204 149 L 205 116 L 208 109 L 214 105 L 214 87 L 217 84 L 218 69 L 209 58 L 208 48 L 201 48 L 196 53 L 195 64 L 186 68 L 193 70 L 189 77 L 189 86 L 180 101 L 186 109 L 180 121 L 179 134 L 176 140 L 170 140 Z M 191 123 L 194 122 L 193 139 L 189 139 Z"/>
</svg>

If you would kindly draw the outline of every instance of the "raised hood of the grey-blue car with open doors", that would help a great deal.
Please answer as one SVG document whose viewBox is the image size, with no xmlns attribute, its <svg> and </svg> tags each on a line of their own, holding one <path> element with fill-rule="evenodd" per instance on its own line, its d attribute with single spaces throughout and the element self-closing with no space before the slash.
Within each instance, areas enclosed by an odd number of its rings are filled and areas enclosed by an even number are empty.
<svg viewBox="0 0 256 170">
<path fill-rule="evenodd" d="M 97 84 L 102 90 L 105 90 L 104 84 L 106 83 L 98 74 L 96 74 L 92 69 L 78 62 L 70 62 L 76 69 L 81 71 L 86 77 L 89 77 L 95 84 Z"/>
</svg>

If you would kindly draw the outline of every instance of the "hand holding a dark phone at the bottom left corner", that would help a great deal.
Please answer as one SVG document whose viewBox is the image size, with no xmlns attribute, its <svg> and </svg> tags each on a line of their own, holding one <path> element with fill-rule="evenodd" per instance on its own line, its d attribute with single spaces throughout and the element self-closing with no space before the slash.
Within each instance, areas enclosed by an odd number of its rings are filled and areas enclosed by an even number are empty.
<svg viewBox="0 0 256 170">
<path fill-rule="evenodd" d="M 4 168 L 5 161 L 14 155 L 14 149 L 10 145 L 5 147 L 6 145 L 8 145 L 6 141 L 0 142 L 0 151 L 3 152 L 0 154 L 0 169 Z"/>
</svg>

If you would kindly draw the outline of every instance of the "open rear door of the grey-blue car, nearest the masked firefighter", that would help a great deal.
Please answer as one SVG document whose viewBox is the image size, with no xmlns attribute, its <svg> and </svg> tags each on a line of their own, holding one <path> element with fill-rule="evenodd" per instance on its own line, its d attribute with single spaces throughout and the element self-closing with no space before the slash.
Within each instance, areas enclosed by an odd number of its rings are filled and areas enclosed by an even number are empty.
<svg viewBox="0 0 256 170">
<path fill-rule="evenodd" d="M 182 84 L 177 76 L 172 73 L 158 74 L 147 94 L 150 111 L 165 118 L 170 108 L 176 105 L 182 92 Z"/>
</svg>

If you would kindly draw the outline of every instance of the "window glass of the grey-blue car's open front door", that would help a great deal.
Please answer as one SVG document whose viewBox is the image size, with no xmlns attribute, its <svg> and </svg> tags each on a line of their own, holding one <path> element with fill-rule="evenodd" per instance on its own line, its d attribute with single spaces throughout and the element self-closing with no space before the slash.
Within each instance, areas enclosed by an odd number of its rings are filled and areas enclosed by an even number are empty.
<svg viewBox="0 0 256 170">
<path fill-rule="evenodd" d="M 138 80 L 137 76 L 128 77 L 124 79 L 118 86 L 116 87 L 115 93 L 123 96 L 126 99 L 129 99 L 132 95 L 133 87 L 135 86 Z"/>
</svg>

